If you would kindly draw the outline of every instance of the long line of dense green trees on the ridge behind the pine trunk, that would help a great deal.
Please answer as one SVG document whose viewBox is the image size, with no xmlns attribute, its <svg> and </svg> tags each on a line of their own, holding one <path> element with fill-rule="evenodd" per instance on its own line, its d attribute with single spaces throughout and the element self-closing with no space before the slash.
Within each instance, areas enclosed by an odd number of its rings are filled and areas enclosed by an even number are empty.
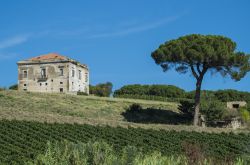
<svg viewBox="0 0 250 165">
<path fill-rule="evenodd" d="M 114 92 L 114 97 L 159 101 L 182 101 L 194 99 L 195 91 L 185 90 L 173 85 L 125 85 Z M 246 101 L 250 103 L 250 93 L 232 89 L 201 91 L 203 100 L 213 99 L 221 102 Z"/>
</svg>

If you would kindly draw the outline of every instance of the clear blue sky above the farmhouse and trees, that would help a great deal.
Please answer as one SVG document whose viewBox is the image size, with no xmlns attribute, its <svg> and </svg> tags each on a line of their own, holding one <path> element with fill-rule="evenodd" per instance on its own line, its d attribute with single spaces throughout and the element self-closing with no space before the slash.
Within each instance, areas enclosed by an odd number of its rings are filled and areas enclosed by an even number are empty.
<svg viewBox="0 0 250 165">
<path fill-rule="evenodd" d="M 91 84 L 172 84 L 193 90 L 190 73 L 162 72 L 151 58 L 161 43 L 182 35 L 230 37 L 250 53 L 248 0 L 9 0 L 0 1 L 0 86 L 17 82 L 18 60 L 57 52 L 90 68 Z M 207 74 L 203 89 L 250 91 Z"/>
</svg>

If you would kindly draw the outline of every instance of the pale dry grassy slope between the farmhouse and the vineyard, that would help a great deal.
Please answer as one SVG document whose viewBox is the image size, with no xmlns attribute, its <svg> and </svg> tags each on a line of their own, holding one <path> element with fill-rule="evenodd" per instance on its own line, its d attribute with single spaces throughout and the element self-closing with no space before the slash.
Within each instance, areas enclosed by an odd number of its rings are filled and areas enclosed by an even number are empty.
<svg viewBox="0 0 250 165">
<path fill-rule="evenodd" d="M 126 110 L 133 103 L 140 104 L 147 113 L 131 121 Z M 39 122 L 78 123 L 175 129 L 188 131 L 231 131 L 230 129 L 195 128 L 176 123 L 178 104 L 135 99 L 100 98 L 65 94 L 43 94 L 18 91 L 0 91 L 0 119 L 16 119 Z M 150 109 L 149 111 L 146 111 Z M 146 117 L 145 117 L 146 116 Z M 146 119 L 144 119 L 144 118 Z M 143 119 L 141 119 L 143 118 Z M 173 125 L 178 124 L 178 125 Z"/>
</svg>

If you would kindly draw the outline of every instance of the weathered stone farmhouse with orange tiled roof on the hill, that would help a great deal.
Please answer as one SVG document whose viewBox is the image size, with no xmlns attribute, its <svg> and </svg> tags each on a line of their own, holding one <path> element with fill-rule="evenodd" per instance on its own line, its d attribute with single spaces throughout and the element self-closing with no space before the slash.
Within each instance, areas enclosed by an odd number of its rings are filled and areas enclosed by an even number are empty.
<svg viewBox="0 0 250 165">
<path fill-rule="evenodd" d="M 49 53 L 19 61 L 17 65 L 20 91 L 89 94 L 87 65 L 66 56 Z"/>
</svg>

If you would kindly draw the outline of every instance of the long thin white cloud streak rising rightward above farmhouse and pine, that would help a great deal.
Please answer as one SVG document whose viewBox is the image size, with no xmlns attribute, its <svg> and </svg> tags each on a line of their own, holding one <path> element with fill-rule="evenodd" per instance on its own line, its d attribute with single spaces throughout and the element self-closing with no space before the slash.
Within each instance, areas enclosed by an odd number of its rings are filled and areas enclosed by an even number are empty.
<svg viewBox="0 0 250 165">
<path fill-rule="evenodd" d="M 118 29 L 118 30 L 112 31 L 112 32 L 93 34 L 89 38 L 116 37 L 116 36 L 125 36 L 125 35 L 129 35 L 129 34 L 133 34 L 133 33 L 144 32 L 144 31 L 148 31 L 148 30 L 155 29 L 155 28 L 158 28 L 160 26 L 166 25 L 170 22 L 177 20 L 180 17 L 181 16 L 173 16 L 173 17 L 168 17 L 168 18 L 158 20 L 155 22 L 146 23 L 144 25 L 135 25 L 133 27 L 122 28 L 122 29 Z"/>
</svg>

